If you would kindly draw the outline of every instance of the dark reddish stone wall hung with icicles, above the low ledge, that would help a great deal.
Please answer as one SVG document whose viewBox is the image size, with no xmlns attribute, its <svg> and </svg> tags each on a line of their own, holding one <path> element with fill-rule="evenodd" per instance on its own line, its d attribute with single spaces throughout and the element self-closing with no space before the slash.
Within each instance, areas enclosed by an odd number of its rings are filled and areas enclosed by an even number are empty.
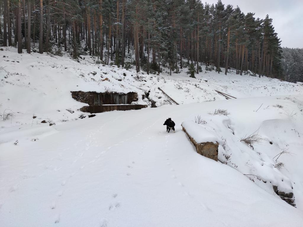
<svg viewBox="0 0 303 227">
<path fill-rule="evenodd" d="M 138 101 L 138 94 L 135 92 L 123 94 L 116 92 L 71 91 L 71 93 L 73 99 L 88 105 L 131 104 L 134 101 Z"/>
</svg>

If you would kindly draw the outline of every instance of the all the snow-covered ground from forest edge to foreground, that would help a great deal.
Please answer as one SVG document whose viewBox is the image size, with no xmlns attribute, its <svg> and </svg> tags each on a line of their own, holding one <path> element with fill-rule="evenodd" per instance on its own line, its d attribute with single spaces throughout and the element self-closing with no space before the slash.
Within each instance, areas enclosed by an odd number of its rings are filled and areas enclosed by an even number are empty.
<svg viewBox="0 0 303 227">
<path fill-rule="evenodd" d="M 303 86 L 204 70 L 192 79 L 186 69 L 138 77 L 88 62 L 93 59 L 78 63 L 7 49 L 0 113 L 10 109 L 14 117 L 0 120 L 1 226 L 303 225 Z M 135 91 L 146 104 L 142 94 L 150 90 L 160 106 L 170 99 L 158 87 L 184 105 L 78 119 L 86 104 L 70 94 Z M 225 100 L 215 90 L 238 99 Z M 230 114 L 208 114 L 216 109 Z M 198 126 L 219 140 L 219 160 L 230 155 L 227 164 L 196 153 L 182 131 L 181 123 L 198 115 L 206 121 Z M 168 117 L 175 133 L 166 133 Z M 252 150 L 240 140 L 255 131 L 262 140 Z M 283 150 L 291 154 L 278 158 L 284 163 L 278 170 L 274 157 Z M 273 192 L 274 183 L 293 187 L 297 208 Z"/>
</svg>

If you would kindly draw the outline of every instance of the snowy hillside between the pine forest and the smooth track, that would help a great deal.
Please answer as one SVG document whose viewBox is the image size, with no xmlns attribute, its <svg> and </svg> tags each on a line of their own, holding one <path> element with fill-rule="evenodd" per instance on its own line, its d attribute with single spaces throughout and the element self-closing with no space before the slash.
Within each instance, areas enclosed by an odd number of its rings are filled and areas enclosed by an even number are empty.
<svg viewBox="0 0 303 227">
<path fill-rule="evenodd" d="M 237 98 L 303 94 L 302 85 L 267 77 L 240 76 L 232 70 L 225 76 L 202 67 L 203 72 L 196 75 L 197 79 L 190 78 L 186 68 L 171 76 L 167 73 L 147 75 L 136 73 L 134 69 L 127 71 L 94 64 L 97 58 L 90 56 L 82 56 L 77 62 L 68 55 L 18 54 L 15 48 L 3 49 L 0 51 L 3 55 L 0 67 L 4 67 L 0 71 L 0 112 L 9 109 L 15 113 L 6 127 L 37 124 L 42 120 L 58 124 L 78 119 L 83 114 L 78 109 L 87 105 L 72 99 L 70 91 L 78 90 L 135 91 L 139 98 L 137 104 L 151 105 L 147 98 L 142 100 L 142 95 L 150 91 L 148 97 L 157 106 L 175 104 L 159 87 L 179 104 L 225 100 L 215 90 Z M 70 113 L 67 109 L 75 112 Z M 33 116 L 36 116 L 34 120 Z"/>
</svg>

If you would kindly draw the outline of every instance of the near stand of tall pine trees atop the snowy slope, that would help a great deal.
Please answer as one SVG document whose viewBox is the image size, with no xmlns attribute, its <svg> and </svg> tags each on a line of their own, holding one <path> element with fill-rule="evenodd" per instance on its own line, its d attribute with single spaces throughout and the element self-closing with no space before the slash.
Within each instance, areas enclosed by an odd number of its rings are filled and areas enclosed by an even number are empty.
<svg viewBox="0 0 303 227">
<path fill-rule="evenodd" d="M 239 7 L 196 0 L 2 0 L 2 46 L 18 53 L 68 52 L 136 71 L 200 66 L 284 78 L 272 19 Z M 128 62 L 125 59 L 134 61 Z M 291 61 L 291 60 L 290 60 Z M 283 62 L 282 62 L 283 63 Z M 287 78 L 286 78 L 287 79 Z"/>
</svg>

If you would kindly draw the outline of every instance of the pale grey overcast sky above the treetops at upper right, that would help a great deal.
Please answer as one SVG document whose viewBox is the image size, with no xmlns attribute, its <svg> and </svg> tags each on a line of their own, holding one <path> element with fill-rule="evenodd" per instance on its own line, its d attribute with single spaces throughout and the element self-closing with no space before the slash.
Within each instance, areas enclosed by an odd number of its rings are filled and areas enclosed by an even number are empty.
<svg viewBox="0 0 303 227">
<path fill-rule="evenodd" d="M 255 18 L 272 18 L 282 47 L 303 48 L 303 0 L 221 0 L 226 6 L 237 5 L 243 13 L 255 13 Z M 205 0 L 201 0 L 202 3 Z M 218 0 L 207 0 L 209 4 Z"/>
</svg>

